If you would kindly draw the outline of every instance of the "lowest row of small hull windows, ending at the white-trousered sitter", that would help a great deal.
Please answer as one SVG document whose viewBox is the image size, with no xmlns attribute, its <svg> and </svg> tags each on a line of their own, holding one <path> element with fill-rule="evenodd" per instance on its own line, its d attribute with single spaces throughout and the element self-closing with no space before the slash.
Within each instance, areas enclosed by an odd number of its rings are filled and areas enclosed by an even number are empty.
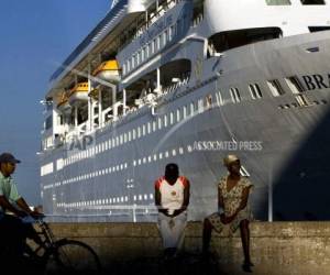
<svg viewBox="0 0 330 275">
<path fill-rule="evenodd" d="M 134 201 L 150 201 L 154 199 L 153 194 L 144 194 L 144 195 L 134 195 L 133 200 Z M 122 197 L 113 197 L 113 198 L 107 198 L 107 199 L 96 199 L 96 200 L 86 200 L 86 201 L 78 201 L 78 202 L 58 202 L 57 207 L 86 207 L 86 206 L 101 206 L 101 205 L 112 205 L 112 204 L 122 204 L 128 202 L 129 197 L 122 196 Z"/>
</svg>

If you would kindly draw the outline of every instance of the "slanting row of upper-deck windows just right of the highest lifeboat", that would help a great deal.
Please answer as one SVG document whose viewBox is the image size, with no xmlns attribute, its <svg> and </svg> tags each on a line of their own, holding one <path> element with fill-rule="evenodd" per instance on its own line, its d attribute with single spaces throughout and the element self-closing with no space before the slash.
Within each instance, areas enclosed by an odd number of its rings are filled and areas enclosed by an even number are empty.
<svg viewBox="0 0 330 275">
<path fill-rule="evenodd" d="M 135 52 L 128 61 L 123 64 L 123 75 L 127 75 L 132 69 L 136 68 L 152 55 L 156 54 L 160 50 L 172 42 L 173 37 L 182 32 L 185 28 L 185 18 L 179 19 L 174 25 L 170 25 L 165 31 L 163 31 L 158 36 L 153 38 L 150 43 L 144 45 L 138 52 Z"/>
</svg>

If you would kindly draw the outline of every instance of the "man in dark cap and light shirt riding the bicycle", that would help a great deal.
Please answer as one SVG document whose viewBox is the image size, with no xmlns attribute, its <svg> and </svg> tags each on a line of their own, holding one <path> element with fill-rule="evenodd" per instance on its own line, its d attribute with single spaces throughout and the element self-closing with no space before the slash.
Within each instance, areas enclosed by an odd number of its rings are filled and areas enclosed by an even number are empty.
<svg viewBox="0 0 330 275">
<path fill-rule="evenodd" d="M 21 256 L 23 242 L 32 227 L 23 224 L 20 218 L 40 213 L 30 209 L 11 177 L 18 163 L 20 161 L 10 153 L 0 155 L 0 240 L 15 256 Z"/>
</svg>

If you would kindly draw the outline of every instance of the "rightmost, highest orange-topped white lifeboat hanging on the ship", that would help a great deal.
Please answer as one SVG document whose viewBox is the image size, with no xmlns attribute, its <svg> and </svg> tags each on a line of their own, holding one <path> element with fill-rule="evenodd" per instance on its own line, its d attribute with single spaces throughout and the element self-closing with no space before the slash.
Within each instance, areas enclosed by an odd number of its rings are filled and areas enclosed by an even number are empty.
<svg viewBox="0 0 330 275">
<path fill-rule="evenodd" d="M 120 80 L 120 69 L 116 59 L 101 63 L 92 73 L 92 76 L 101 80 L 118 84 Z"/>
</svg>

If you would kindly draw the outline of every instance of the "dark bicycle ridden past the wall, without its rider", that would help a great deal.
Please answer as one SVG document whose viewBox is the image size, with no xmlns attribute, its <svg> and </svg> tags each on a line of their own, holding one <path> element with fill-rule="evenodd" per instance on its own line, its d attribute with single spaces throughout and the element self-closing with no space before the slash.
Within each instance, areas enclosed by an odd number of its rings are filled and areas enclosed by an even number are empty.
<svg viewBox="0 0 330 275">
<path fill-rule="evenodd" d="M 40 243 L 24 248 L 24 257 L 32 262 L 33 268 L 42 274 L 101 274 L 101 263 L 96 252 L 86 243 L 56 240 L 43 217 L 35 219 L 40 231 Z"/>
</svg>

